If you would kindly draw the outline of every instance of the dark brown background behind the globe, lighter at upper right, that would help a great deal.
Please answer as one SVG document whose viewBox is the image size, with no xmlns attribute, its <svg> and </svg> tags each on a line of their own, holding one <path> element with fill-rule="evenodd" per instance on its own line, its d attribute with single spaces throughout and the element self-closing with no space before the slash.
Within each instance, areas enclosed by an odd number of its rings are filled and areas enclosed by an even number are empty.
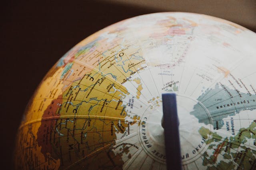
<svg viewBox="0 0 256 170">
<path fill-rule="evenodd" d="M 7 1 L 0 6 L 0 169 L 10 169 L 16 129 L 51 66 L 88 35 L 120 20 L 162 11 L 204 13 L 256 31 L 256 1 Z M 212 3 L 212 1 L 209 1 Z M 167 3 L 167 4 L 166 4 Z M 230 5 L 229 5 L 230 4 Z"/>
</svg>

